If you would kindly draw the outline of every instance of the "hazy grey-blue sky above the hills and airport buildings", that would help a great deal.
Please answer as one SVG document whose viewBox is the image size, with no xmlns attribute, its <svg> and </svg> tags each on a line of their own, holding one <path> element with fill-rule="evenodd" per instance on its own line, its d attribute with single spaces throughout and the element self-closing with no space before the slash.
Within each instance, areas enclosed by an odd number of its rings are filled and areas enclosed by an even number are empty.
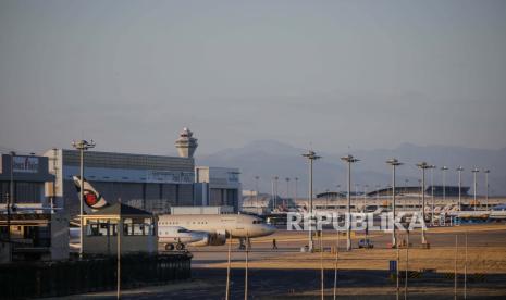
<svg viewBox="0 0 506 300">
<path fill-rule="evenodd" d="M 0 147 L 506 147 L 506 1 L 0 0 Z"/>
</svg>

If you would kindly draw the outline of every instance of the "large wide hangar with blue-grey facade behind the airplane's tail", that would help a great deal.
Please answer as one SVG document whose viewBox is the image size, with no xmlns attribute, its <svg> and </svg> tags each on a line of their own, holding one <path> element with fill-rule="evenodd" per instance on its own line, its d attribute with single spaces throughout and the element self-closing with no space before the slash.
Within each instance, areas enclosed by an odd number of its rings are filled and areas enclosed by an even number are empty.
<svg viewBox="0 0 506 300">
<path fill-rule="evenodd" d="M 79 152 L 57 149 L 45 153 L 55 174 L 57 205 L 71 215 L 79 211 L 73 176 L 79 175 Z M 85 151 L 85 178 L 109 203 L 166 213 L 171 205 L 193 205 L 194 159 Z"/>
</svg>

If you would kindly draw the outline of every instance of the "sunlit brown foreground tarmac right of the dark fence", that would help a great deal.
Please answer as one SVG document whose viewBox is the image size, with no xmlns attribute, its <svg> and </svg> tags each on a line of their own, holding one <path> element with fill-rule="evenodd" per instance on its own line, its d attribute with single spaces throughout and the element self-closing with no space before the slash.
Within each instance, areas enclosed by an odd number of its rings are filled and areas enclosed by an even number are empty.
<svg viewBox="0 0 506 300">
<path fill-rule="evenodd" d="M 395 299 L 396 279 L 388 271 L 396 260 L 396 249 L 388 248 L 391 234 L 370 233 L 374 249 L 357 249 L 365 233 L 353 239 L 354 249 L 345 251 L 340 236 L 336 295 L 340 299 Z M 464 297 L 464 278 L 469 299 L 506 298 L 506 224 L 474 224 L 429 228 L 430 249 L 420 247 L 420 234 L 411 233 L 409 241 L 409 299 L 449 299 L 455 297 L 455 236 L 457 249 L 457 298 Z M 465 255 L 465 237 L 468 255 Z M 407 238 L 400 234 L 399 239 Z M 276 239 L 277 249 L 272 249 Z M 321 265 L 324 267 L 324 298 L 333 299 L 335 246 L 337 235 L 324 230 L 323 253 L 301 253 L 307 232 L 277 230 L 269 237 L 252 240 L 249 252 L 249 299 L 316 299 L 321 297 Z M 314 239 L 319 246 L 320 240 Z M 244 299 L 245 251 L 232 245 L 231 298 Z M 165 286 L 125 290 L 123 299 L 225 299 L 229 246 L 190 248 L 194 254 L 192 279 Z M 406 249 L 399 249 L 399 298 L 404 298 Z M 466 268 L 466 272 L 465 272 Z M 465 275 L 466 273 L 466 275 Z M 87 293 L 67 299 L 113 299 L 115 292 Z"/>
</svg>

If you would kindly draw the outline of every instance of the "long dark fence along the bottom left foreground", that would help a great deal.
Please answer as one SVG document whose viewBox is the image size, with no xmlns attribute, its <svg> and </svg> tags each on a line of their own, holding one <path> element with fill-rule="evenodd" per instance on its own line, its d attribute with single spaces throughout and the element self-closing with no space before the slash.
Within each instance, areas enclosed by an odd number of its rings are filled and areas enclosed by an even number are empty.
<svg viewBox="0 0 506 300">
<path fill-rule="evenodd" d="M 187 279 L 190 261 L 188 253 L 122 255 L 122 288 Z M 115 287 L 115 257 L 0 265 L 0 299 L 57 297 Z"/>
</svg>

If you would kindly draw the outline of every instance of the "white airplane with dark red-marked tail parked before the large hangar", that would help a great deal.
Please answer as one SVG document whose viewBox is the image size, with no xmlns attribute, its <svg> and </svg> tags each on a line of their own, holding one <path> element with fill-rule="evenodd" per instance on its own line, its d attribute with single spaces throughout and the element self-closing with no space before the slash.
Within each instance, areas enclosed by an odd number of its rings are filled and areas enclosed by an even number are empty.
<svg viewBox="0 0 506 300">
<path fill-rule="evenodd" d="M 77 192 L 81 191 L 81 179 L 74 176 Z M 86 213 L 99 211 L 109 203 L 84 179 L 84 198 Z M 244 249 L 244 241 L 250 238 L 268 236 L 275 227 L 268 225 L 260 217 L 245 214 L 186 214 L 159 215 L 158 239 L 165 250 L 184 250 L 186 245 L 221 246 L 226 238 L 238 238 L 239 248 Z M 78 235 L 81 233 L 74 233 Z"/>
</svg>

